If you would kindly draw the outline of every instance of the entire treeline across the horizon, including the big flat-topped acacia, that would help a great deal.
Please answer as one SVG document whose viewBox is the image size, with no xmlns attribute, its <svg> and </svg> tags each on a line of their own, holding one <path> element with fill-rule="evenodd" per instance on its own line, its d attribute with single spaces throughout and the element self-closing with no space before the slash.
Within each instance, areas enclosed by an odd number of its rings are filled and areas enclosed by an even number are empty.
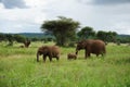
<svg viewBox="0 0 130 87">
<path fill-rule="evenodd" d="M 64 16 L 58 16 L 57 20 L 44 21 L 41 30 L 42 34 L 0 34 L 0 41 L 9 41 L 9 46 L 12 46 L 13 41 L 25 44 L 28 40 L 44 42 L 53 40 L 57 46 L 74 46 L 82 39 L 102 39 L 106 44 L 130 44 L 130 36 L 121 36 L 116 32 L 95 32 L 90 26 L 81 27 L 79 22 Z"/>
</svg>

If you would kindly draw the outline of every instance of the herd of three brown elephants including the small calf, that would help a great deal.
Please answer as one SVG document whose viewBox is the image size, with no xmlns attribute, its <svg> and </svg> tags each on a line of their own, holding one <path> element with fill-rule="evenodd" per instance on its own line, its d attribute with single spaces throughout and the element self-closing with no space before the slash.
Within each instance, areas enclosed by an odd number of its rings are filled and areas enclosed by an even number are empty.
<svg viewBox="0 0 130 87">
<path fill-rule="evenodd" d="M 105 42 L 102 40 L 81 40 L 77 42 L 76 47 L 76 53 L 68 53 L 67 59 L 77 59 L 78 51 L 83 49 L 84 50 L 84 58 L 87 59 L 90 57 L 91 53 L 104 55 L 106 53 Z M 52 61 L 52 58 L 56 58 L 56 60 L 60 60 L 61 50 L 57 46 L 42 46 L 38 48 L 37 51 L 37 62 L 39 62 L 39 55 L 43 57 L 43 61 L 46 62 L 47 57 L 49 57 L 49 60 Z"/>
</svg>

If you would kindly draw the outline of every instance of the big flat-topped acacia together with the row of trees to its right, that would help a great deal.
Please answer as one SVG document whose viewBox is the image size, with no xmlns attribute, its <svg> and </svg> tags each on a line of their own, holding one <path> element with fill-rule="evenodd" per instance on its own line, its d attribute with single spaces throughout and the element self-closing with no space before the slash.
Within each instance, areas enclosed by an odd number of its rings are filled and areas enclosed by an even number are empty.
<svg viewBox="0 0 130 87">
<path fill-rule="evenodd" d="M 81 27 L 79 22 L 64 16 L 58 16 L 57 20 L 44 21 L 41 30 L 52 34 L 58 46 L 72 46 L 82 39 L 102 39 L 106 44 L 116 42 L 118 45 L 120 42 L 130 42 L 130 37 L 118 37 L 116 32 L 95 32 L 90 26 Z"/>
</svg>

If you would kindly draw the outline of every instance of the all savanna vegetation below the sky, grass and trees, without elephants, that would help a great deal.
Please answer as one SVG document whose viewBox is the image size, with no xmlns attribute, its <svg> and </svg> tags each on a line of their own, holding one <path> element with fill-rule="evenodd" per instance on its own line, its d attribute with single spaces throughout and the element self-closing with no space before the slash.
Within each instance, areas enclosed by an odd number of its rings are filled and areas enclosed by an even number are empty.
<svg viewBox="0 0 130 87">
<path fill-rule="evenodd" d="M 0 34 L 0 87 L 130 87 L 129 36 L 80 27 L 79 22 L 64 16 L 43 22 L 41 30 L 43 36 Z M 67 60 L 82 39 L 105 41 L 106 55 L 84 59 L 81 50 L 77 60 Z M 60 61 L 47 59 L 44 63 L 40 57 L 37 62 L 37 50 L 44 45 L 60 46 Z"/>
</svg>

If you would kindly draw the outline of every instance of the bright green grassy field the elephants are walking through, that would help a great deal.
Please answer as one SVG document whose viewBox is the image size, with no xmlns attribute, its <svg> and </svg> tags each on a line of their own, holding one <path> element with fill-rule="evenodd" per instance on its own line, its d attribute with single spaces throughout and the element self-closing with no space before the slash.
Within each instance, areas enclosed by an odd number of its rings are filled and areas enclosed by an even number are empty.
<svg viewBox="0 0 130 87">
<path fill-rule="evenodd" d="M 49 59 L 36 62 L 36 52 L 42 42 L 30 48 L 5 47 L 0 42 L 0 87 L 130 87 L 130 46 L 108 45 L 106 57 L 84 59 L 79 51 L 77 60 L 67 60 L 75 48 L 61 48 L 60 61 Z M 48 44 L 52 45 L 52 44 Z"/>
</svg>

